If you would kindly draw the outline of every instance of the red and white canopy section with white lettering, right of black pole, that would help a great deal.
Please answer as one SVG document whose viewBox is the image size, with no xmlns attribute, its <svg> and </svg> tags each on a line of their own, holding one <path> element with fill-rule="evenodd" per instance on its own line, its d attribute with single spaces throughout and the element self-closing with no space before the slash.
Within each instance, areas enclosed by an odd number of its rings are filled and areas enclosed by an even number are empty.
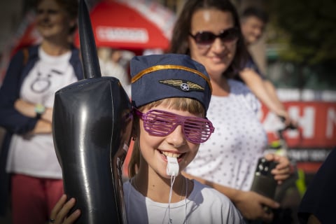
<svg viewBox="0 0 336 224">
<path fill-rule="evenodd" d="M 97 47 L 139 52 L 169 48 L 174 13 L 153 1 L 101 1 L 90 10 Z M 78 35 L 75 38 L 79 46 Z"/>
</svg>

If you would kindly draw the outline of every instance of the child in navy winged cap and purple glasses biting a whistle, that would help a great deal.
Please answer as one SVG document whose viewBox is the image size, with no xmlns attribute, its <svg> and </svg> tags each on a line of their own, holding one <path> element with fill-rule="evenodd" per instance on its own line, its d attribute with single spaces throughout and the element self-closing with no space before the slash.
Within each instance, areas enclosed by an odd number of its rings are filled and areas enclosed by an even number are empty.
<svg viewBox="0 0 336 224">
<path fill-rule="evenodd" d="M 195 158 L 214 127 L 206 111 L 211 84 L 204 66 L 187 55 L 148 55 L 131 61 L 134 149 L 124 183 L 128 223 L 244 223 L 228 197 L 181 170 Z M 80 216 L 64 195 L 54 223 Z"/>
</svg>

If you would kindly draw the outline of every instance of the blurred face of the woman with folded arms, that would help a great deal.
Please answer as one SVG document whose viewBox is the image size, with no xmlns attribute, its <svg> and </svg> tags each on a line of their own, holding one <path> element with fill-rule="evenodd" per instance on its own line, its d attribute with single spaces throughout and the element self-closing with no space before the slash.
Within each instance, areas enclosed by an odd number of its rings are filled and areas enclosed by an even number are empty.
<svg viewBox="0 0 336 224">
<path fill-rule="evenodd" d="M 70 27 L 75 25 L 66 11 L 55 0 L 43 0 L 37 7 L 37 29 L 43 38 L 69 36 Z"/>
</svg>

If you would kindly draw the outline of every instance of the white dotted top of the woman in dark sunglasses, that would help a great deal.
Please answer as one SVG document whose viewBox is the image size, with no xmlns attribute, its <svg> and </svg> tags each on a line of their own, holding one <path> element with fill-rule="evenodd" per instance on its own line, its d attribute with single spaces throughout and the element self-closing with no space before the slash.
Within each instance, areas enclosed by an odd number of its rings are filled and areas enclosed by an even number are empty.
<svg viewBox="0 0 336 224">
<path fill-rule="evenodd" d="M 260 102 L 236 80 L 228 80 L 228 97 L 211 96 L 207 118 L 215 127 L 200 145 L 188 174 L 239 190 L 250 190 L 267 135 L 258 119 Z"/>
</svg>

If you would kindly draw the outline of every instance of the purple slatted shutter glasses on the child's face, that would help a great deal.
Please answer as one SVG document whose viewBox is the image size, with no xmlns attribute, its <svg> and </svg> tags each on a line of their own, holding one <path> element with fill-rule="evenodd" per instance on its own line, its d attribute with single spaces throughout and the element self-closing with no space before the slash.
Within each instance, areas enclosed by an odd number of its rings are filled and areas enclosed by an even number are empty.
<svg viewBox="0 0 336 224">
<path fill-rule="evenodd" d="M 144 121 L 146 132 L 158 137 L 167 136 L 181 125 L 186 139 L 194 144 L 200 144 L 207 141 L 215 130 L 211 121 L 206 118 L 179 116 L 160 110 L 151 110 L 147 113 L 141 113 L 137 109 L 134 111 Z"/>
</svg>

